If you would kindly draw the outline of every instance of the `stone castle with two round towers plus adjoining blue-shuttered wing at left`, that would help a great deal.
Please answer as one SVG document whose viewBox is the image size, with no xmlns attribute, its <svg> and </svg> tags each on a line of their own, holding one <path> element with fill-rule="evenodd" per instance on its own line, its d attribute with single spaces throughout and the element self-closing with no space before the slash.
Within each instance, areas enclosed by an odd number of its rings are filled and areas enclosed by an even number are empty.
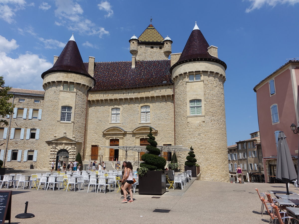
<svg viewBox="0 0 299 224">
<path fill-rule="evenodd" d="M 84 63 L 72 36 L 42 73 L 45 91 L 11 90 L 16 106 L 0 128 L 0 159 L 45 170 L 77 153 L 86 163 L 123 161 L 125 151 L 102 146 L 147 145 L 151 127 L 158 145 L 193 147 L 202 180 L 228 181 L 226 64 L 196 24 L 182 53 L 172 43 L 150 24 L 129 40 L 131 61 Z M 177 154 L 181 169 L 186 155 Z"/>
</svg>

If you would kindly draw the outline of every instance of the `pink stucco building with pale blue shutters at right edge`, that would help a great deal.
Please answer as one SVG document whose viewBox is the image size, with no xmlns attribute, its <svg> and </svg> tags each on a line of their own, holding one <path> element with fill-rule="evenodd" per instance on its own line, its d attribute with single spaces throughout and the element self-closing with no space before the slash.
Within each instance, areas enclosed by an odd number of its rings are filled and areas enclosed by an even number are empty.
<svg viewBox="0 0 299 224">
<path fill-rule="evenodd" d="M 289 61 L 254 87 L 263 151 L 265 182 L 275 181 L 277 136 L 283 131 L 297 171 L 298 134 L 290 125 L 298 126 L 299 61 Z"/>
</svg>

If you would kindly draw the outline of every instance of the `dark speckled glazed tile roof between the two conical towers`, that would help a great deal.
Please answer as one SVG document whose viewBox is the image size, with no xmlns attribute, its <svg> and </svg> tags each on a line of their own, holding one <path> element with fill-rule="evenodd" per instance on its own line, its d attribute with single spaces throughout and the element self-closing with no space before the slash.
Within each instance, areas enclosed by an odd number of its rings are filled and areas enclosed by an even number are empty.
<svg viewBox="0 0 299 224">
<path fill-rule="evenodd" d="M 130 61 L 95 62 L 96 82 L 91 91 L 169 84 L 172 83 L 169 68 L 170 60 L 137 61 L 135 68 Z"/>
</svg>

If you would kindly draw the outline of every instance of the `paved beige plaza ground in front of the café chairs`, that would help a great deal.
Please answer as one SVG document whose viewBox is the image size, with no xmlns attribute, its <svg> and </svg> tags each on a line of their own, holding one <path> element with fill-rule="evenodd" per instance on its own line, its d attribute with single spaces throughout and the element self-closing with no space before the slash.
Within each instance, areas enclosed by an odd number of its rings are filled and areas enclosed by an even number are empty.
<svg viewBox="0 0 299 224">
<path fill-rule="evenodd" d="M 45 172 L 38 170 L 8 170 L 7 173 Z M 10 188 L 12 195 L 11 223 L 268 223 L 269 216 L 259 213 L 260 192 L 284 190 L 284 184 L 222 183 L 194 180 L 184 190 L 170 189 L 160 198 L 157 195 L 133 194 L 134 203 L 120 203 L 120 193 L 112 191 L 87 193 L 81 191 L 36 190 Z M 113 189 L 113 188 L 112 188 Z M 6 190 L 6 188 L 2 188 Z M 290 184 L 290 191 L 296 190 Z M 34 218 L 16 219 L 24 213 L 28 201 L 28 213 Z M 167 209 L 169 213 L 153 212 Z M 6 221 L 5 223 L 8 223 Z"/>
</svg>

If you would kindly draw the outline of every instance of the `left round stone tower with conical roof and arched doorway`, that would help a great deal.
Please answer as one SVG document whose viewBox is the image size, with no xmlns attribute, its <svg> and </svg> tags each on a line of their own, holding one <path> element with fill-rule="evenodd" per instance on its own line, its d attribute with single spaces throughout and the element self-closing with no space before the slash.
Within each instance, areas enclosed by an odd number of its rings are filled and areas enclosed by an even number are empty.
<svg viewBox="0 0 299 224">
<path fill-rule="evenodd" d="M 42 73 L 42 79 L 45 98 L 40 139 L 45 144 L 40 150 L 46 151 L 43 164 L 49 167 L 60 153 L 74 160 L 84 142 L 87 92 L 95 81 L 86 71 L 74 36 L 53 67 Z"/>
</svg>

